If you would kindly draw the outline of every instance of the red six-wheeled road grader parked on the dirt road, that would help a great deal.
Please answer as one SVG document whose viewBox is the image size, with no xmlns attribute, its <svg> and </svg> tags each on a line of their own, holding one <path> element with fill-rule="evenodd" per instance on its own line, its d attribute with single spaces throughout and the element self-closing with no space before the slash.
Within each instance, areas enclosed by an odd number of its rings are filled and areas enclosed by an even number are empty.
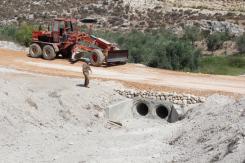
<svg viewBox="0 0 245 163">
<path fill-rule="evenodd" d="M 89 23 L 89 31 L 82 32 L 78 22 Z M 48 24 L 47 30 L 33 31 L 29 55 L 53 60 L 57 56 L 71 62 L 88 57 L 93 66 L 122 64 L 128 61 L 128 50 L 119 50 L 116 44 L 91 34 L 95 19 L 57 18 Z"/>
</svg>

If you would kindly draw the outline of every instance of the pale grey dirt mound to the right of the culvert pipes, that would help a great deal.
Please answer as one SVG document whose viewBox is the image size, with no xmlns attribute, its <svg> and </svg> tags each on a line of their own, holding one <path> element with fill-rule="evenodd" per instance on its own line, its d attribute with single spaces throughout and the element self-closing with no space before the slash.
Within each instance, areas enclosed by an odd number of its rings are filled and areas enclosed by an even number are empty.
<svg viewBox="0 0 245 163">
<path fill-rule="evenodd" d="M 180 162 L 244 162 L 245 98 L 214 95 L 186 114 L 171 145 L 182 148 Z M 200 161 L 203 160 L 203 161 Z"/>
</svg>

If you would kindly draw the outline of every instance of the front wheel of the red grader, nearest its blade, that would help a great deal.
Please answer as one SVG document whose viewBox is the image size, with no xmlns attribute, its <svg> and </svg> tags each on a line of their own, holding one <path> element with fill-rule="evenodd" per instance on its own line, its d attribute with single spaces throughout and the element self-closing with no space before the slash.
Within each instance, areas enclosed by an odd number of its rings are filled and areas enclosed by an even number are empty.
<svg viewBox="0 0 245 163">
<path fill-rule="evenodd" d="M 94 49 L 92 54 L 90 55 L 90 62 L 93 66 L 101 66 L 105 61 L 105 56 L 99 49 Z"/>
</svg>

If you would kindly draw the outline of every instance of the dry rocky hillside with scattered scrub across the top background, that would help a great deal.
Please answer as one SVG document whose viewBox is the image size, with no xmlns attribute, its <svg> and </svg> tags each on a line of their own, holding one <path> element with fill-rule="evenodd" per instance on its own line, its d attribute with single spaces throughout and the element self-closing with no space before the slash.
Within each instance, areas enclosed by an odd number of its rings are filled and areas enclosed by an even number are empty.
<svg viewBox="0 0 245 163">
<path fill-rule="evenodd" d="M 0 24 L 42 22 L 54 17 L 95 17 L 97 27 L 128 30 L 184 25 L 234 34 L 244 32 L 243 0 L 3 0 Z M 173 28 L 174 27 L 174 28 Z"/>
</svg>

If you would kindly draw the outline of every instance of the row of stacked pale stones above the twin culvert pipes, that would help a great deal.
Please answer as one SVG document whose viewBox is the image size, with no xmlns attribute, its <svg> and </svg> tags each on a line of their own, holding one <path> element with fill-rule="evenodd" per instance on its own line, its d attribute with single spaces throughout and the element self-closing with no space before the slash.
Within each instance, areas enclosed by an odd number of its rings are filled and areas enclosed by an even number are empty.
<svg viewBox="0 0 245 163">
<path fill-rule="evenodd" d="M 115 90 L 118 94 L 127 98 L 149 98 L 156 100 L 169 101 L 177 105 L 190 105 L 204 103 L 205 97 L 194 96 L 190 94 L 177 94 L 176 92 L 151 92 L 139 90 Z"/>
</svg>

